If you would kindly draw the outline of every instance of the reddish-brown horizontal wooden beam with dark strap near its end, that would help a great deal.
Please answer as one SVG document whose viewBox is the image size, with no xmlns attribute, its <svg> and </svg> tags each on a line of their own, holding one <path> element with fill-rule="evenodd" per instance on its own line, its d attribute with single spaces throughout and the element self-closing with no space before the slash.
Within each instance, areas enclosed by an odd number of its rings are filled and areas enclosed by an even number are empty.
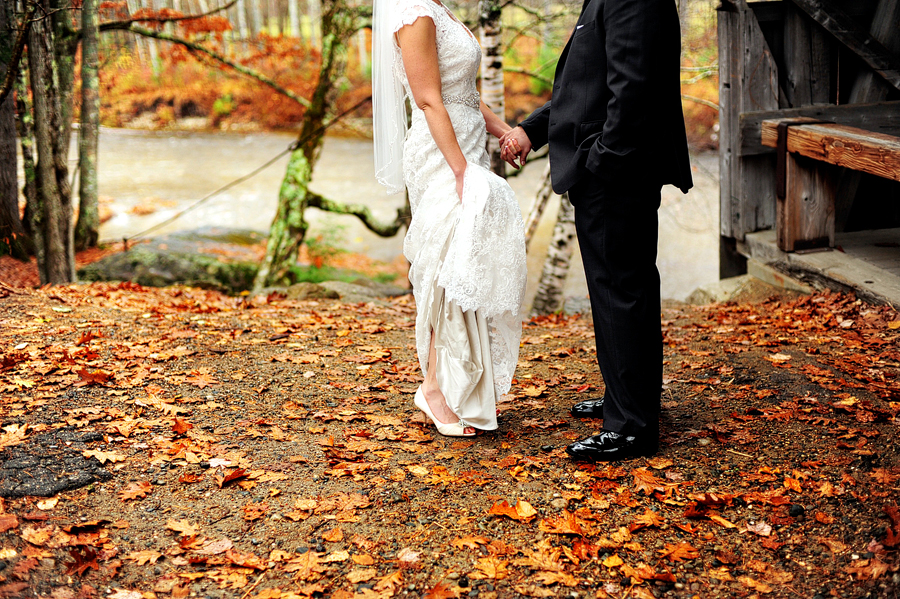
<svg viewBox="0 0 900 599">
<path fill-rule="evenodd" d="M 846 125 L 796 125 L 787 131 L 787 150 L 855 171 L 900 181 L 900 137 Z M 764 121 L 762 143 L 778 143 L 778 121 Z"/>
</svg>

